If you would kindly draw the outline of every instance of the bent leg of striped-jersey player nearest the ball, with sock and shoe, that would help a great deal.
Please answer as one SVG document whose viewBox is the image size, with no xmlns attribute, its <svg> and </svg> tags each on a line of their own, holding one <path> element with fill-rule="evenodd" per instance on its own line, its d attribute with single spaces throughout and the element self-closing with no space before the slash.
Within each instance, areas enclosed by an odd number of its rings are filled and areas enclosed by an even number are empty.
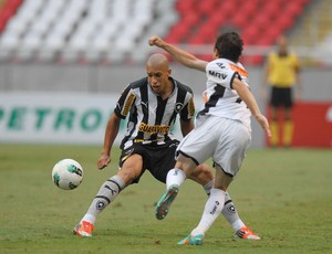
<svg viewBox="0 0 332 254">
<path fill-rule="evenodd" d="M 143 159 L 139 155 L 132 155 L 123 163 L 116 176 L 105 181 L 93 199 L 86 214 L 74 227 L 73 233 L 79 236 L 92 236 L 97 215 L 135 179 L 142 173 Z"/>
</svg>

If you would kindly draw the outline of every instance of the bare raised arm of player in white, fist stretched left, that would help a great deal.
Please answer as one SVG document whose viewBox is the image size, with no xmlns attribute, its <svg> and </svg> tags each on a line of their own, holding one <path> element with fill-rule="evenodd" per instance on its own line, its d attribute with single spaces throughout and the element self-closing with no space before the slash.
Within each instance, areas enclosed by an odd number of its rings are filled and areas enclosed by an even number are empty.
<svg viewBox="0 0 332 254">
<path fill-rule="evenodd" d="M 205 72 L 205 68 L 207 65 L 206 61 L 199 60 L 195 55 L 193 55 L 175 45 L 172 45 L 172 44 L 165 42 L 157 35 L 153 35 L 148 40 L 148 44 L 151 46 L 155 45 L 155 46 L 158 46 L 158 47 L 165 50 L 167 53 L 169 53 L 172 55 L 173 59 L 175 59 L 177 62 L 179 62 L 180 64 L 183 64 L 187 67 L 196 68 L 198 71 Z"/>
</svg>

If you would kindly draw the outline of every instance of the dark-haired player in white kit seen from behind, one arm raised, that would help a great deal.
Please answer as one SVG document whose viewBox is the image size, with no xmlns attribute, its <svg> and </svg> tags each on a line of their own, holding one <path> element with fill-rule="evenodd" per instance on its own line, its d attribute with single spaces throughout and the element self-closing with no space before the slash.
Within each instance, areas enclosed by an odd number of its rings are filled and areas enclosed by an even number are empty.
<svg viewBox="0 0 332 254">
<path fill-rule="evenodd" d="M 179 187 L 198 165 L 212 158 L 215 183 L 206 202 L 199 224 L 178 244 L 201 245 L 205 233 L 221 213 L 226 190 L 240 169 L 251 140 L 251 114 L 268 137 L 267 118 L 248 85 L 248 74 L 239 63 L 243 42 L 236 32 L 227 32 L 216 40 L 211 62 L 201 61 L 154 35 L 149 45 L 168 52 L 187 67 L 205 72 L 205 106 L 198 113 L 196 127 L 179 144 L 177 162 L 166 179 L 166 193 L 156 207 L 156 216 L 165 218 Z"/>
</svg>

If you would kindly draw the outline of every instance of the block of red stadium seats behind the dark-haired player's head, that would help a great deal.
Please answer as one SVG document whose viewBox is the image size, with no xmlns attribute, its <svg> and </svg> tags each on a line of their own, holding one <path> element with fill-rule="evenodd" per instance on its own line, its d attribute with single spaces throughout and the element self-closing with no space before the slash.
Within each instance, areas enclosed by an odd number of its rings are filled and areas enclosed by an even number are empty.
<svg viewBox="0 0 332 254">
<path fill-rule="evenodd" d="M 272 45 L 281 33 L 292 28 L 309 2 L 310 0 L 179 0 L 176 9 L 180 20 L 174 24 L 166 39 L 179 44 L 211 44 L 220 31 L 236 29 L 247 45 Z M 247 62 L 251 64 L 259 64 L 261 61 L 260 56 L 247 57 Z"/>
</svg>

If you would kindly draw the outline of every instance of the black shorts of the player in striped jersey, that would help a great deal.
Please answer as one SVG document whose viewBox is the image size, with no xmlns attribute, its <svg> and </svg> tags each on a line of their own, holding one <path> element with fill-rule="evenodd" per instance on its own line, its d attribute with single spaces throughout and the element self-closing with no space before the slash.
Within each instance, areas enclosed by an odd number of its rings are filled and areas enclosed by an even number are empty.
<svg viewBox="0 0 332 254">
<path fill-rule="evenodd" d="M 164 145 L 142 145 L 141 142 L 122 151 L 118 166 L 122 167 L 126 158 L 131 155 L 141 155 L 143 158 L 143 169 L 138 178 L 133 183 L 137 183 L 145 170 L 151 171 L 155 179 L 166 183 L 166 176 L 175 166 L 175 151 L 178 140 L 169 140 Z"/>
</svg>

